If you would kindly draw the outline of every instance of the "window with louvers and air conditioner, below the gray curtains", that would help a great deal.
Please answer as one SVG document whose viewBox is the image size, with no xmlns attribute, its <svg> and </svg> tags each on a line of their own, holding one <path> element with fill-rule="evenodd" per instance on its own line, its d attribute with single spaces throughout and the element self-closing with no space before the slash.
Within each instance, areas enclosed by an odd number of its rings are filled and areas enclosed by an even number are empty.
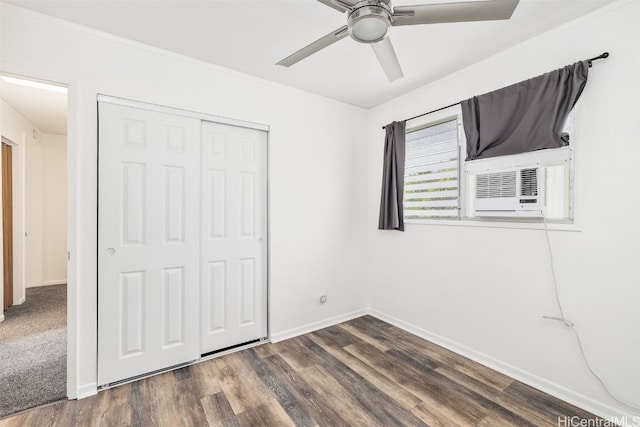
<svg viewBox="0 0 640 427">
<path fill-rule="evenodd" d="M 566 147 L 465 162 L 459 108 L 407 126 L 405 221 L 572 222 L 573 127 Z"/>
</svg>

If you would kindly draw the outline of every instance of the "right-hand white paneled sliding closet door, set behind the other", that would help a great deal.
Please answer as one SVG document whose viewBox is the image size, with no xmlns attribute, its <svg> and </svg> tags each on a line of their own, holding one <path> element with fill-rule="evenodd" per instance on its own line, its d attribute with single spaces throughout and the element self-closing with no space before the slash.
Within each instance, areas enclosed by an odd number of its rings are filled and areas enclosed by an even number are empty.
<svg viewBox="0 0 640 427">
<path fill-rule="evenodd" d="M 267 335 L 267 133 L 202 123 L 202 353 Z"/>
</svg>

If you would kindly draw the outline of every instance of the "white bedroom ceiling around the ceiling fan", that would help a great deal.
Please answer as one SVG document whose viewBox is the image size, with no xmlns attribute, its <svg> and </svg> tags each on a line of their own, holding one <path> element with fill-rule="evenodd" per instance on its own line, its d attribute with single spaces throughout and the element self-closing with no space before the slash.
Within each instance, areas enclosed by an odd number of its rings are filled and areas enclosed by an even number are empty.
<svg viewBox="0 0 640 427">
<path fill-rule="evenodd" d="M 2 1 L 371 108 L 613 0 L 520 0 L 508 21 L 394 27 L 391 39 L 405 77 L 393 83 L 372 49 L 350 38 L 291 68 L 275 65 L 346 24 L 345 14 L 316 0 Z"/>
</svg>

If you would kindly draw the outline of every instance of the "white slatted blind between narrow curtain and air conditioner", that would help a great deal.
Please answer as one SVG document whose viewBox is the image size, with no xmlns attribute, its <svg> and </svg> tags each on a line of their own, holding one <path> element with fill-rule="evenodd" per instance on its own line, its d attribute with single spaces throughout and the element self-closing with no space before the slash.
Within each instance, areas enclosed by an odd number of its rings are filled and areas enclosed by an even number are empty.
<svg viewBox="0 0 640 427">
<path fill-rule="evenodd" d="M 406 135 L 404 218 L 459 218 L 457 118 Z"/>
</svg>

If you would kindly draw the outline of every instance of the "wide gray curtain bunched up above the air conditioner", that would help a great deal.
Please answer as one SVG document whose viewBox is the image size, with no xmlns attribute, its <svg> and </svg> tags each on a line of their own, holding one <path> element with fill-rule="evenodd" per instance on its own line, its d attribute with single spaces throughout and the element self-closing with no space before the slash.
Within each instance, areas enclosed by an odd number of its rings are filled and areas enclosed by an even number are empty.
<svg viewBox="0 0 640 427">
<path fill-rule="evenodd" d="M 467 159 L 568 145 L 564 123 L 587 84 L 589 61 L 462 101 Z"/>
</svg>

